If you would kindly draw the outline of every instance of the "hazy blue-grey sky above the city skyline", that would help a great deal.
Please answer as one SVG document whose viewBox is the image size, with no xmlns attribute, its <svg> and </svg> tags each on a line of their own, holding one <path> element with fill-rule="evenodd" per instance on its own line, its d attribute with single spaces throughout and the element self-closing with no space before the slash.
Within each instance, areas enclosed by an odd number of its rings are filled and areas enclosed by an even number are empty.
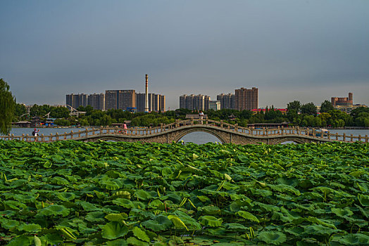
<svg viewBox="0 0 369 246">
<path fill-rule="evenodd" d="M 0 78 L 17 103 L 135 89 L 166 97 L 258 88 L 259 108 L 369 106 L 368 0 L 1 0 Z"/>
</svg>

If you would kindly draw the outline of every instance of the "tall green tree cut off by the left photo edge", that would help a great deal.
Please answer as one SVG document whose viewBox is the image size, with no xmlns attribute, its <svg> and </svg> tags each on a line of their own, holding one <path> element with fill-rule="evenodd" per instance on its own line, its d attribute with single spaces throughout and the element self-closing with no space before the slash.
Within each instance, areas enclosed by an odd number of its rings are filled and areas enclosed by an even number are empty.
<svg viewBox="0 0 369 246">
<path fill-rule="evenodd" d="M 4 79 L 0 79 L 0 134 L 9 134 L 11 131 L 15 104 L 15 98 L 11 94 L 10 86 Z"/>
</svg>

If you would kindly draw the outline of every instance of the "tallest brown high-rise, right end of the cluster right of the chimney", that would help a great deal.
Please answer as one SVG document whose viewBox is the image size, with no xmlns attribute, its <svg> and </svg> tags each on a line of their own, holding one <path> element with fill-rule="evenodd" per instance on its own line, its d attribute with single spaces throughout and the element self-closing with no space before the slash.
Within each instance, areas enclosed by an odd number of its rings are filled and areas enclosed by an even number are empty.
<svg viewBox="0 0 369 246">
<path fill-rule="evenodd" d="M 253 110 L 258 108 L 258 89 L 253 87 L 252 89 L 236 89 L 234 91 L 234 101 L 236 110 Z"/>
</svg>

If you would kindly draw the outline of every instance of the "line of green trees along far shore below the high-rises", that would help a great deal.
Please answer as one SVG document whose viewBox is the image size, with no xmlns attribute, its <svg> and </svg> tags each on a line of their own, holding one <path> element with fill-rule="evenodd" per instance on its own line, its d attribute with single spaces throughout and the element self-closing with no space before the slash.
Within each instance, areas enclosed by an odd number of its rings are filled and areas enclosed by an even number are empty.
<svg viewBox="0 0 369 246">
<path fill-rule="evenodd" d="M 57 118 L 55 124 L 60 126 L 108 126 L 113 123 L 123 123 L 127 120 L 132 126 L 152 126 L 157 127 L 161 123 L 170 124 L 175 119 L 185 119 L 187 114 L 197 114 L 198 111 L 187 109 L 177 109 L 167 112 L 127 112 L 123 110 L 94 110 L 92 106 L 79 107 L 77 110 L 86 112 L 80 117 L 71 117 L 69 110 L 63 107 L 50 105 L 33 105 L 30 115 L 25 114 L 24 105 L 15 105 L 15 119 L 30 119 L 30 117 L 44 117 L 49 114 L 52 118 Z M 223 120 L 230 124 L 239 124 L 246 127 L 252 123 L 282 123 L 300 127 L 369 127 L 369 108 L 356 108 L 350 115 L 335 110 L 330 101 L 324 101 L 320 106 L 320 114 L 314 103 L 301 104 L 299 101 L 292 101 L 287 104 L 287 114 L 275 110 L 274 106 L 266 107 L 265 112 L 257 113 L 250 110 L 208 110 L 204 112 L 208 119 Z"/>
</svg>

